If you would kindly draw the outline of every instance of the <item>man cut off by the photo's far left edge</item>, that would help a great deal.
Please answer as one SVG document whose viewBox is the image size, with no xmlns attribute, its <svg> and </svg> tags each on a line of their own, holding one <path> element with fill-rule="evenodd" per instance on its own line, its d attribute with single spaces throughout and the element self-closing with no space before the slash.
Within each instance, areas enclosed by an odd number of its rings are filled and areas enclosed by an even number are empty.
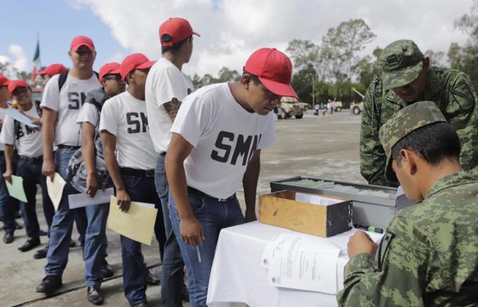
<svg viewBox="0 0 478 307">
<path fill-rule="evenodd" d="M 9 80 L 3 75 L 0 74 L 0 131 L 4 124 L 5 112 L 4 110 L 8 109 L 8 100 L 10 99 L 10 93 L 8 93 L 8 82 Z M 0 143 L 0 171 L 1 174 L 4 174 L 6 171 L 5 157 L 4 157 L 5 145 Z M 10 244 L 13 242 L 13 233 L 15 232 L 16 223 L 15 223 L 15 200 L 13 197 L 8 195 L 8 190 L 6 189 L 5 180 L 3 176 L 0 178 L 0 218 L 4 222 L 4 243 Z"/>
</svg>

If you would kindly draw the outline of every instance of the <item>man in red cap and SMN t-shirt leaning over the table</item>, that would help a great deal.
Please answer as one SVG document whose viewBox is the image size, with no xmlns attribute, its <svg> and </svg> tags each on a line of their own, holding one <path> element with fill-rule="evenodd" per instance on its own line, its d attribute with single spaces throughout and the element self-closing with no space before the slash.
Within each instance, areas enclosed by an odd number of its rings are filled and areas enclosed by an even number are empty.
<svg viewBox="0 0 478 307">
<path fill-rule="evenodd" d="M 188 272 L 192 306 L 206 306 L 222 228 L 256 220 L 260 153 L 275 143 L 274 107 L 290 86 L 292 63 L 273 48 L 247 60 L 239 82 L 205 86 L 186 97 L 166 157 L 170 214 Z M 243 183 L 245 217 L 235 192 Z"/>
</svg>

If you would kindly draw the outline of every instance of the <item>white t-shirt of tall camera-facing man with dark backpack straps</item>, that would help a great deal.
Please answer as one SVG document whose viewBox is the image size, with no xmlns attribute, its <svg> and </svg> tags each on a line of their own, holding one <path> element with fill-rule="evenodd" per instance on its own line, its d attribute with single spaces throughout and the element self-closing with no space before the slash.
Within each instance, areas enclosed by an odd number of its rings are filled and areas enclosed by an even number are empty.
<svg viewBox="0 0 478 307">
<path fill-rule="evenodd" d="M 55 145 L 81 146 L 82 137 L 77 125 L 79 109 L 84 104 L 86 94 L 93 89 L 98 89 L 101 84 L 96 74 L 87 80 L 76 79 L 69 74 L 61 91 L 58 91 L 59 77 L 60 74 L 51 77 L 46 84 L 41 107 L 48 107 L 58 112 Z"/>
</svg>

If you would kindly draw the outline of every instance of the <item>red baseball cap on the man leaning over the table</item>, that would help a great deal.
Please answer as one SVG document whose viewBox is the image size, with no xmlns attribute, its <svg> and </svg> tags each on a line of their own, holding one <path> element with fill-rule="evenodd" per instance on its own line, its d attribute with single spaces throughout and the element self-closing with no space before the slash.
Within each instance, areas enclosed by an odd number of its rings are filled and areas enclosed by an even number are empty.
<svg viewBox="0 0 478 307">
<path fill-rule="evenodd" d="M 244 70 L 257 76 L 266 89 L 278 96 L 297 97 L 290 81 L 292 63 L 276 48 L 260 48 L 247 59 Z"/>
</svg>

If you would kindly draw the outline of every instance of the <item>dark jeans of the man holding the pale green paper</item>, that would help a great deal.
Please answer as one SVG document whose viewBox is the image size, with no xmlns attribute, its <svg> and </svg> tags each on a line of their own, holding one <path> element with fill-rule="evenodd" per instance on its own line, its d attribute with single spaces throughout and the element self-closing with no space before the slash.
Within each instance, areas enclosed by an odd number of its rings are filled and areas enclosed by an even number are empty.
<svg viewBox="0 0 478 307">
<path fill-rule="evenodd" d="M 48 191 L 46 190 L 46 177 L 41 174 L 41 160 L 37 162 L 29 162 L 27 159 L 20 157 L 17 166 L 17 175 L 23 178 L 23 189 L 27 196 L 27 203 L 20 202 L 23 220 L 28 237 L 39 237 L 40 226 L 37 218 L 37 184 L 41 185 L 41 201 L 43 203 L 43 211 L 45 214 L 46 224 L 50 226 L 53 219 L 55 209 L 51 203 Z"/>
</svg>

